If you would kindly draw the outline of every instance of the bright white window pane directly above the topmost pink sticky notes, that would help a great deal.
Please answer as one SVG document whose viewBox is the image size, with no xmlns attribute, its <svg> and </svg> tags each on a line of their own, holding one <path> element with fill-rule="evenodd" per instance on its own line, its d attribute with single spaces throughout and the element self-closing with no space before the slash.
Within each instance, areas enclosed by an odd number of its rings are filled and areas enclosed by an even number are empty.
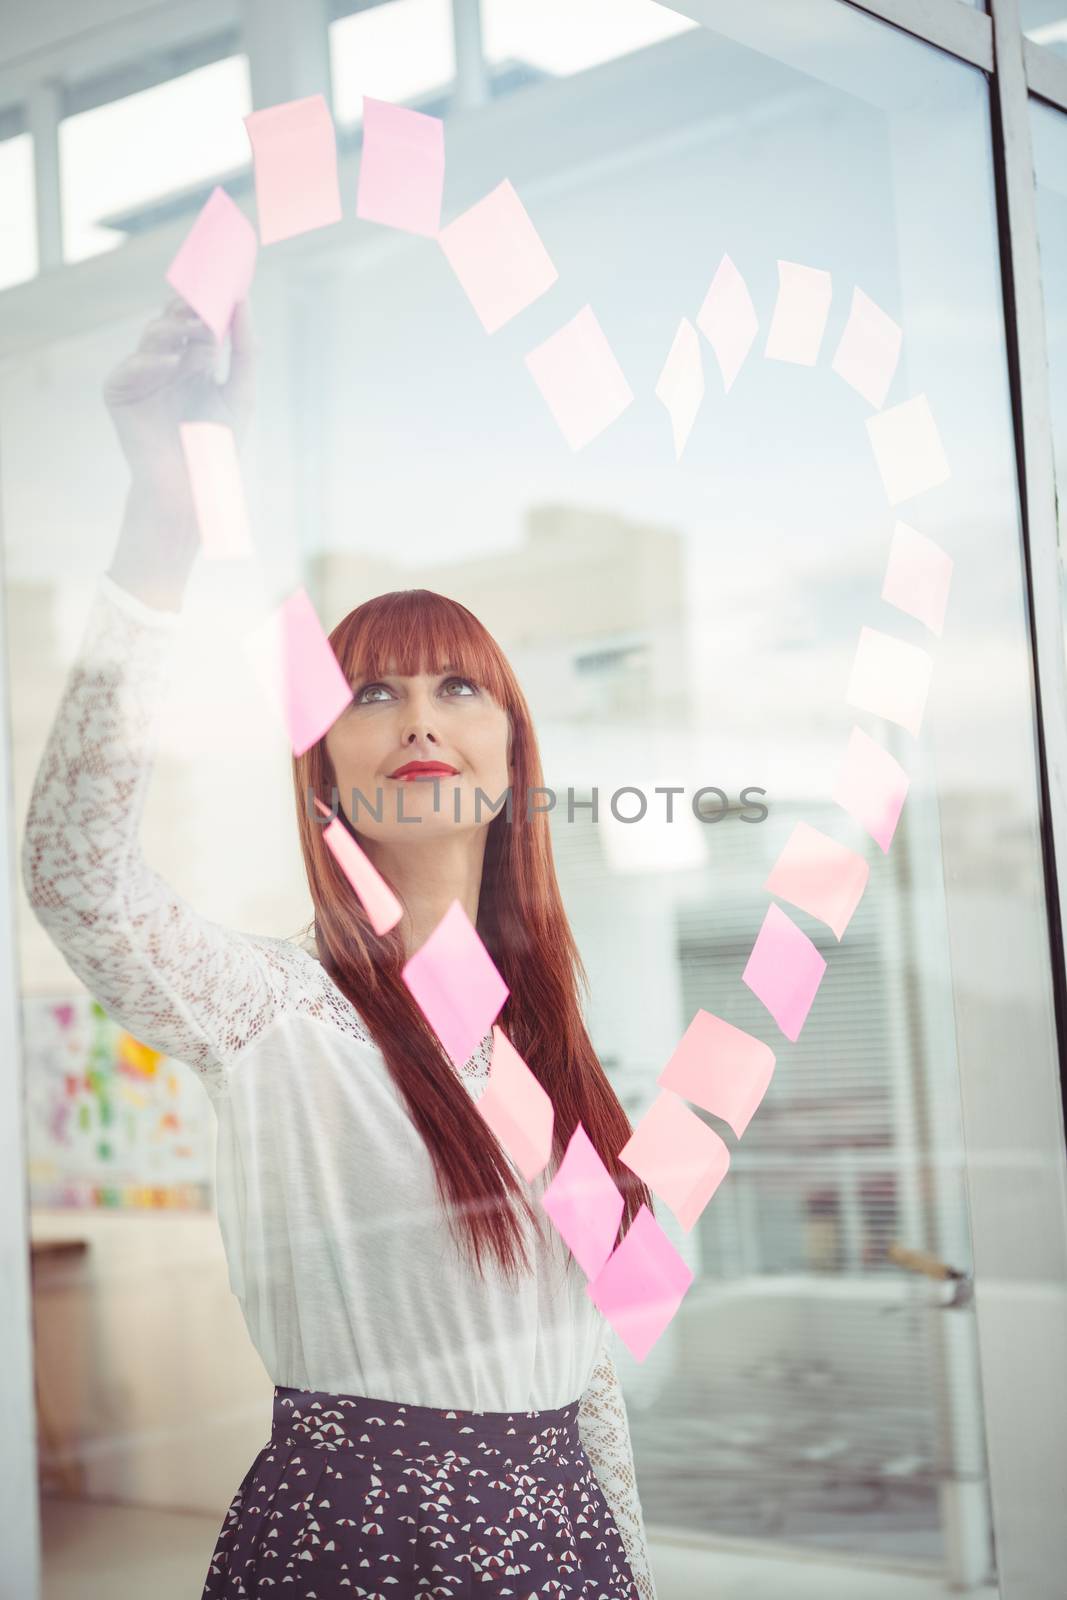
<svg viewBox="0 0 1067 1600">
<path fill-rule="evenodd" d="M 365 94 L 406 104 L 451 85 L 451 0 L 387 0 L 331 22 L 330 66 L 339 125 L 363 122 Z"/>
</svg>

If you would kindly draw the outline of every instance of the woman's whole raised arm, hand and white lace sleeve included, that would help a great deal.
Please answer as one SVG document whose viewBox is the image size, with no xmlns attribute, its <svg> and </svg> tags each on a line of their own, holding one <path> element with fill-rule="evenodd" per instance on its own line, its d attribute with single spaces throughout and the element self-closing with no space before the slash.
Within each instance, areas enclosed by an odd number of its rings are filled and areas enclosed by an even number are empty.
<svg viewBox="0 0 1067 1600">
<path fill-rule="evenodd" d="M 154 720 L 198 542 L 178 424 L 214 416 L 240 427 L 251 398 L 246 314 L 226 384 L 214 381 L 210 341 L 176 302 L 107 382 L 130 498 L 37 770 L 22 882 L 99 1003 L 144 1043 L 195 1067 L 214 1096 L 227 1062 L 272 1019 L 291 954 L 285 941 L 200 917 L 139 850 Z"/>
</svg>

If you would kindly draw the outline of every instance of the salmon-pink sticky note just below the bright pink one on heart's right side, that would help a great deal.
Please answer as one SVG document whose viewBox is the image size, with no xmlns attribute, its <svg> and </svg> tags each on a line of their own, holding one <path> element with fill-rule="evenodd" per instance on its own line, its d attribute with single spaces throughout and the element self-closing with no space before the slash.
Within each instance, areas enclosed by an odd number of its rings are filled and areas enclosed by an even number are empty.
<svg viewBox="0 0 1067 1600">
<path fill-rule="evenodd" d="M 721 1117 L 741 1138 L 773 1072 L 769 1045 L 721 1016 L 697 1011 L 656 1082 Z"/>
</svg>

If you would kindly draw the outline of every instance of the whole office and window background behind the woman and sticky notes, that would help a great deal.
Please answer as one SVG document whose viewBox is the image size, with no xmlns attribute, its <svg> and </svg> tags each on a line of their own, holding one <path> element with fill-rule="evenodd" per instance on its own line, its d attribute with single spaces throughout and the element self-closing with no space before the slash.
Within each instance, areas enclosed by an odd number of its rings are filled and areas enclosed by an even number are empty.
<svg viewBox="0 0 1067 1600">
<path fill-rule="evenodd" d="M 0 1026 L 5 1600 L 198 1594 L 269 1430 L 213 1216 L 211 1109 L 94 1005 L 14 869 L 125 467 L 99 390 L 211 187 L 254 218 L 242 118 L 322 91 L 346 218 L 261 251 L 245 456 L 259 563 L 194 579 L 146 854 L 203 914 L 310 917 L 290 757 L 240 637 L 302 582 L 326 629 L 429 587 L 523 683 L 593 1045 L 637 1120 L 739 982 L 798 819 L 870 862 L 800 1040 L 691 1234 L 696 1283 L 624 1358 L 661 1600 L 1054 1600 L 1067 1571 L 1067 8 L 1062 0 L 3 0 Z M 560 280 L 493 338 L 432 242 L 354 214 L 363 94 L 442 115 L 445 218 L 510 178 Z M 952 555 L 893 850 L 829 798 L 893 531 L 869 406 L 824 358 L 710 363 L 675 461 L 654 397 L 728 253 L 904 330 Z M 523 370 L 590 302 L 635 403 L 571 453 Z M 1059 478 L 1059 499 L 1057 499 Z M 1059 522 L 1057 522 L 1059 506 Z M 718 821 L 621 786 L 715 786 Z M 741 816 L 745 787 L 768 816 Z M 952 1277 L 905 1270 L 891 1246 Z M 208 1448 L 205 1450 L 205 1438 Z M 203 1462 L 208 1462 L 206 1469 Z M 195 1464 L 195 1466 L 194 1466 Z"/>
</svg>

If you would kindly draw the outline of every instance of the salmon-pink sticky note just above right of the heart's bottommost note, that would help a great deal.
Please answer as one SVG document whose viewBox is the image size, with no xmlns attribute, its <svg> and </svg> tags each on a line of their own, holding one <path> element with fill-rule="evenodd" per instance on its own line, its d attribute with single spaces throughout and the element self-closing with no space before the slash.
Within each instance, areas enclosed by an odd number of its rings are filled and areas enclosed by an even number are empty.
<svg viewBox="0 0 1067 1600">
<path fill-rule="evenodd" d="M 685 1101 L 665 1090 L 648 1107 L 619 1160 L 665 1200 L 686 1232 L 729 1166 L 729 1150 Z"/>
</svg>

